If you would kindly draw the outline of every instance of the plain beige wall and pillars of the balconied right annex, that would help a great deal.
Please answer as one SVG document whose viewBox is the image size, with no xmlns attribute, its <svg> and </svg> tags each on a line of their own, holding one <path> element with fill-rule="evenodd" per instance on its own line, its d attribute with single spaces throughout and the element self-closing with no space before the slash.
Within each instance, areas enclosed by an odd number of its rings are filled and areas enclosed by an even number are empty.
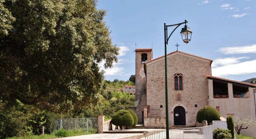
<svg viewBox="0 0 256 139">
<path fill-rule="evenodd" d="M 209 79 L 209 82 L 212 80 Z M 209 83 L 210 86 L 210 83 Z M 234 118 L 242 117 L 248 118 L 251 117 L 253 120 L 256 120 L 255 116 L 255 101 L 254 101 L 254 92 L 253 88 L 249 88 L 249 98 L 235 97 L 233 98 L 233 88 L 232 84 L 228 83 L 228 95 L 229 98 L 213 98 L 213 92 L 209 88 L 209 101 L 215 107 L 220 107 L 220 115 L 226 117 L 226 114 L 234 114 Z M 251 136 L 256 138 L 256 126 L 248 127 L 248 129 L 242 129 L 241 134 L 245 136 Z"/>
</svg>

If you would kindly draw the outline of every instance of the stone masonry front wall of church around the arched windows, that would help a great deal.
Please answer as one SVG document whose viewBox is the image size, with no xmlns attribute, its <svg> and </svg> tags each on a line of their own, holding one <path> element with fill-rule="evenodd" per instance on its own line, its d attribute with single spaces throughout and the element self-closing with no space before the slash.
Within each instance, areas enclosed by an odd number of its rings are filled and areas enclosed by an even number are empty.
<svg viewBox="0 0 256 139">
<path fill-rule="evenodd" d="M 160 108 L 166 117 L 164 59 L 147 63 L 147 105 Z M 186 125 L 195 125 L 198 110 L 208 104 L 208 80 L 210 61 L 176 52 L 167 57 L 169 125 L 174 125 L 173 109 L 182 106 L 186 111 Z M 183 75 L 183 90 L 174 90 L 174 74 Z M 175 96 L 181 94 L 182 100 Z M 195 107 L 197 104 L 197 107 Z"/>
</svg>

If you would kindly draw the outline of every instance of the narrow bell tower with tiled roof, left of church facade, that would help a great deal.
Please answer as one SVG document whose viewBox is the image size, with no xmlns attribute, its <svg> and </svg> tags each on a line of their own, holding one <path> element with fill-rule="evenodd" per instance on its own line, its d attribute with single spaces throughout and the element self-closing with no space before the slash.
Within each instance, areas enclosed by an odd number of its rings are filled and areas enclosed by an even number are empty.
<svg viewBox="0 0 256 139">
<path fill-rule="evenodd" d="M 138 106 L 146 87 L 144 63 L 152 60 L 152 49 L 135 49 L 135 107 Z"/>
</svg>

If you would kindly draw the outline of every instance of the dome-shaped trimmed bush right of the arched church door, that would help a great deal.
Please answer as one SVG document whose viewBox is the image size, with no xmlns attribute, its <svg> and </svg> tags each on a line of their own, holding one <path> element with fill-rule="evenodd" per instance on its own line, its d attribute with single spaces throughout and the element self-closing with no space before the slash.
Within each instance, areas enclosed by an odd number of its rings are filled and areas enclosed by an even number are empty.
<svg viewBox="0 0 256 139">
<path fill-rule="evenodd" d="M 206 106 L 205 109 L 207 109 L 207 110 L 205 110 L 205 115 L 206 115 L 207 123 L 212 123 L 213 120 L 220 120 L 220 118 L 221 118 L 220 114 L 213 107 Z M 204 120 L 203 108 L 201 108 L 197 112 L 196 120 L 197 120 L 198 123 L 202 123 L 202 121 Z"/>
</svg>

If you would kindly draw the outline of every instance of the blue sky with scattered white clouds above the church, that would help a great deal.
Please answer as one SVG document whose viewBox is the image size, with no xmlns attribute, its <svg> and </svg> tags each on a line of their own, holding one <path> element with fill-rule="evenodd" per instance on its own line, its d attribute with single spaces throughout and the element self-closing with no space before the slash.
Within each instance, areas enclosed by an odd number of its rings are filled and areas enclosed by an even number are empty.
<svg viewBox="0 0 256 139">
<path fill-rule="evenodd" d="M 191 41 L 183 43 L 178 27 L 167 53 L 178 50 L 213 60 L 212 75 L 242 81 L 256 78 L 256 0 L 99 0 L 108 10 L 104 22 L 112 43 L 121 48 L 119 62 L 105 70 L 106 80 L 128 80 L 135 74 L 136 48 L 164 55 L 164 23 L 188 21 Z M 174 28 L 173 28 L 174 29 Z M 173 29 L 168 28 L 168 33 Z"/>
</svg>

